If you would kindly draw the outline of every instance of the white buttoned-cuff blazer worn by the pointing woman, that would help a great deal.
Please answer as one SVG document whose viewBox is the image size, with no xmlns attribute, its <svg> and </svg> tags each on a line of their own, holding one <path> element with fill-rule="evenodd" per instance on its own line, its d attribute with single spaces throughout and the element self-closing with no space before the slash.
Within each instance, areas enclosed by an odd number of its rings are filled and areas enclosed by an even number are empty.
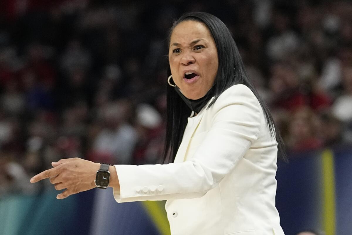
<svg viewBox="0 0 352 235">
<path fill-rule="evenodd" d="M 174 163 L 115 165 L 115 200 L 167 200 L 172 235 L 284 235 L 277 142 L 257 98 L 234 85 L 206 109 L 211 101 L 188 118 Z"/>
</svg>

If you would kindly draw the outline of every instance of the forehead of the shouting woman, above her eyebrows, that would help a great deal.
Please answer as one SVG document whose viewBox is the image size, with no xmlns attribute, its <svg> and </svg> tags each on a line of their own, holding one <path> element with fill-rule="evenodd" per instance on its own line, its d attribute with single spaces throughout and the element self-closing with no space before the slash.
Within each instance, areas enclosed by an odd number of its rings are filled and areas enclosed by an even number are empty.
<svg viewBox="0 0 352 235">
<path fill-rule="evenodd" d="M 172 31 L 170 45 L 172 45 L 172 43 L 188 44 L 197 38 L 214 42 L 208 27 L 204 23 L 195 20 L 182 21 L 176 25 L 175 29 Z"/>
</svg>

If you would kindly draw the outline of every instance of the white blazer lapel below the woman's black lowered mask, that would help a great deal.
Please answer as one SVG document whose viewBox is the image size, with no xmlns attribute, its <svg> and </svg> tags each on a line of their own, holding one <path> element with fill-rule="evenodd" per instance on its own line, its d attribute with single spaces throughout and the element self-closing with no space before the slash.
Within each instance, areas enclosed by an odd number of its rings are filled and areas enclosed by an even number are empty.
<svg viewBox="0 0 352 235">
<path fill-rule="evenodd" d="M 182 142 L 180 144 L 180 147 L 177 150 L 177 154 L 176 154 L 176 157 L 174 160 L 175 163 L 184 161 L 191 137 L 193 136 L 194 132 L 197 130 L 197 127 L 198 127 L 200 121 L 202 120 L 202 117 L 203 117 L 204 113 L 206 112 L 208 105 L 213 101 L 213 99 L 214 99 L 214 97 L 212 97 L 208 101 L 205 108 L 202 109 L 197 114 L 197 116 L 192 117 L 192 118 L 191 117 L 188 118 L 188 124 L 187 124 L 186 130 L 183 134 Z M 190 122 L 193 122 L 193 123 L 191 123 L 191 125 L 188 126 L 190 124 Z"/>
</svg>

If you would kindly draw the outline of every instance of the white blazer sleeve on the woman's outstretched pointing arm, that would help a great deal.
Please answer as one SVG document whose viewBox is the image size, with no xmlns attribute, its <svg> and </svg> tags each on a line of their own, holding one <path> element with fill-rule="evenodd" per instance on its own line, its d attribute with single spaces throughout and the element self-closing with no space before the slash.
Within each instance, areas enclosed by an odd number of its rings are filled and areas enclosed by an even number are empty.
<svg viewBox="0 0 352 235">
<path fill-rule="evenodd" d="M 207 110 L 211 128 L 189 160 L 165 165 L 115 165 L 117 202 L 202 197 L 219 184 L 257 140 L 263 113 L 245 85 L 223 92 Z"/>
</svg>

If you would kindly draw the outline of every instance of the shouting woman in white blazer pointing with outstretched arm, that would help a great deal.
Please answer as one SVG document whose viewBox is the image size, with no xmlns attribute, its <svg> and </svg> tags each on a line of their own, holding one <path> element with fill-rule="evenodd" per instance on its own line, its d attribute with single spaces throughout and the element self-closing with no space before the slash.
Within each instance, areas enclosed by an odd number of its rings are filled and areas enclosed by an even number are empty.
<svg viewBox="0 0 352 235">
<path fill-rule="evenodd" d="M 225 24 L 183 15 L 170 30 L 169 64 L 164 159 L 172 163 L 108 166 L 116 201 L 167 200 L 171 234 L 284 234 L 275 208 L 282 141 Z M 52 165 L 31 182 L 67 188 L 59 199 L 95 187 L 99 163 Z"/>
</svg>

